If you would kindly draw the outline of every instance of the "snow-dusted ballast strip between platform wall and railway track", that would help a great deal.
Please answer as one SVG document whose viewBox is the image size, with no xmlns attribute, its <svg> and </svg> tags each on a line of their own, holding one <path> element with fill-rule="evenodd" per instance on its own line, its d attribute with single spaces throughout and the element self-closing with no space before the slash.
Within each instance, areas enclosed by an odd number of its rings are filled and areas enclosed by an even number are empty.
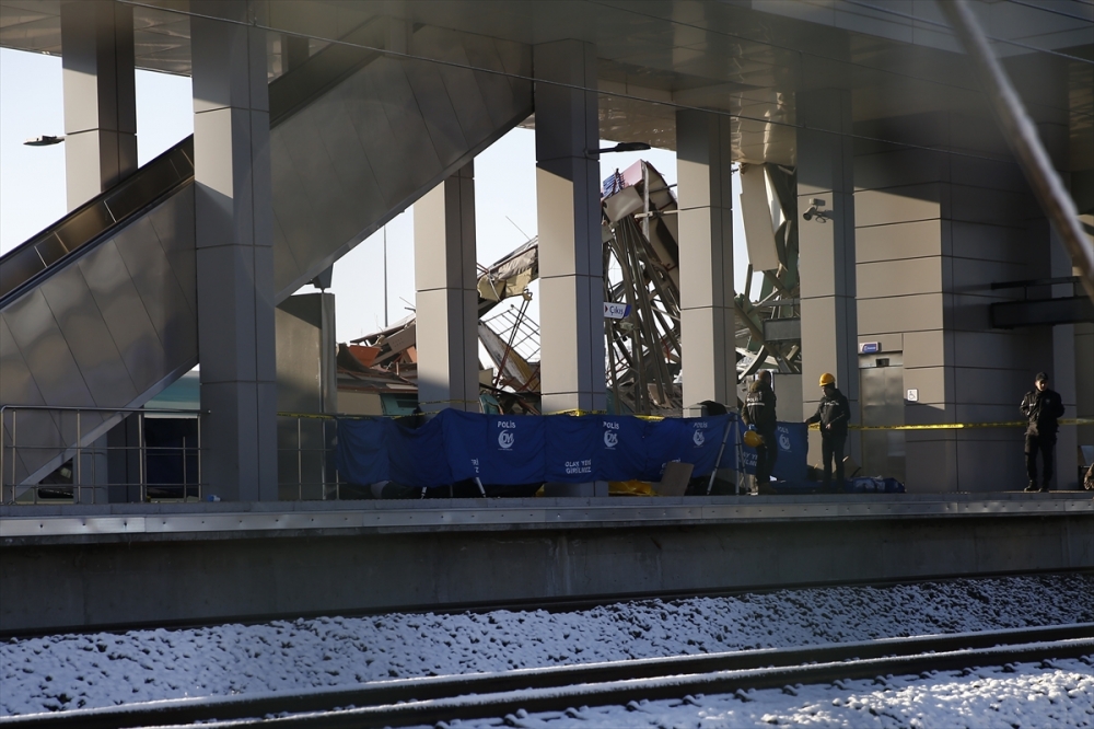
<svg viewBox="0 0 1094 729">
<path fill-rule="evenodd" d="M 13 638 L 0 644 L 0 715 L 1080 622 L 1094 622 L 1092 576 Z"/>
</svg>

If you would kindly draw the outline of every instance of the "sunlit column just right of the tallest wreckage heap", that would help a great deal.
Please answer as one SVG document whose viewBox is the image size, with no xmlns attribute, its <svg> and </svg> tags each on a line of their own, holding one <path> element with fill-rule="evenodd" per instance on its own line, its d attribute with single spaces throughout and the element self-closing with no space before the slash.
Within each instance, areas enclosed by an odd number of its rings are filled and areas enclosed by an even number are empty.
<svg viewBox="0 0 1094 729">
<path fill-rule="evenodd" d="M 676 114 L 684 404 L 736 406 L 730 119 Z"/>
</svg>

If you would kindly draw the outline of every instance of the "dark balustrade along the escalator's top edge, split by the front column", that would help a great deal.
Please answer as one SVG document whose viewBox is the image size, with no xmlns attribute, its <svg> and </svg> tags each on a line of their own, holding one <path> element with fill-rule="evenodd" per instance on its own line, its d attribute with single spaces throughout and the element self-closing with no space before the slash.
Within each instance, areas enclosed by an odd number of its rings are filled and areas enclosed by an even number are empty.
<svg viewBox="0 0 1094 729">
<path fill-rule="evenodd" d="M 276 127 L 383 55 L 386 19 L 372 19 L 269 85 L 270 127 Z M 365 48 L 359 47 L 365 46 Z M 0 256 L 0 309 L 68 262 L 109 238 L 194 180 L 194 136 L 142 165 L 110 189 Z"/>
</svg>

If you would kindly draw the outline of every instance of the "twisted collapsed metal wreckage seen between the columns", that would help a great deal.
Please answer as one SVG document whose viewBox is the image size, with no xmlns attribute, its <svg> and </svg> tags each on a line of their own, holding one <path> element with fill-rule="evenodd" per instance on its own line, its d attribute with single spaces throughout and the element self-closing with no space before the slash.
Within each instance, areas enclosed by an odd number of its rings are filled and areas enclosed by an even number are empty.
<svg viewBox="0 0 1094 729">
<path fill-rule="evenodd" d="M 763 368 L 801 372 L 796 182 L 777 164 L 744 165 L 743 213 L 750 258 L 736 296 L 737 380 Z M 683 402 L 679 230 L 676 197 L 664 176 L 640 160 L 616 171 L 602 190 L 602 242 L 608 409 L 680 415 Z M 756 213 L 760 211 L 760 213 Z M 764 212 L 766 211 L 766 212 Z M 753 253 L 756 255 L 753 255 Z M 539 328 L 528 316 L 528 285 L 539 276 L 533 238 L 490 266 L 479 266 L 478 338 L 490 362 L 480 381 L 484 409 L 539 412 Z M 759 277 L 753 297 L 753 279 Z M 499 309 L 505 300 L 509 306 Z M 381 369 L 412 382 L 416 320 L 410 315 L 344 345 L 340 366 Z M 347 355 L 354 355 L 347 359 Z"/>
</svg>

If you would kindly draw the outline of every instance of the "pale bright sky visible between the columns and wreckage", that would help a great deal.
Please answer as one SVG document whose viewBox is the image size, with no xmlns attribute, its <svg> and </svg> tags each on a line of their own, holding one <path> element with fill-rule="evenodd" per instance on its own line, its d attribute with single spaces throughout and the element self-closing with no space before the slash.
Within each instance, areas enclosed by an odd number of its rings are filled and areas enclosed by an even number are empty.
<svg viewBox="0 0 1094 729">
<path fill-rule="evenodd" d="M 63 144 L 23 144 L 31 137 L 63 134 L 63 127 L 60 58 L 0 49 L 0 253 L 65 215 Z M 137 71 L 139 163 L 193 131 L 189 78 Z M 601 178 L 639 159 L 651 162 L 670 184 L 676 182 L 675 152 L 656 149 L 603 155 Z M 535 132 L 514 129 L 502 137 L 476 158 L 475 177 L 478 262 L 489 265 L 537 232 Z M 735 187 L 736 182 L 734 176 Z M 337 298 L 340 342 L 371 334 L 384 324 L 385 234 L 388 321 L 407 316 L 414 305 L 414 213 L 408 208 L 386 231 L 372 235 L 335 265 L 330 290 Z M 735 287 L 742 290 L 748 261 L 740 216 L 734 220 L 734 242 Z M 531 288 L 534 299 L 528 314 L 538 321 L 538 285 Z"/>
</svg>

